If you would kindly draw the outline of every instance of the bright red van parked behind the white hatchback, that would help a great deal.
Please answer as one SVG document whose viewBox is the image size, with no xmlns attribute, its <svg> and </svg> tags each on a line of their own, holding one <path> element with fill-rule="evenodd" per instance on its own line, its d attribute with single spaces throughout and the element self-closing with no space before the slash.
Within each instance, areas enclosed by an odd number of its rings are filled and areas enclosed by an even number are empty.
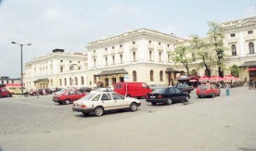
<svg viewBox="0 0 256 151">
<path fill-rule="evenodd" d="M 114 92 L 126 97 L 144 97 L 152 90 L 146 82 L 116 82 Z"/>
</svg>

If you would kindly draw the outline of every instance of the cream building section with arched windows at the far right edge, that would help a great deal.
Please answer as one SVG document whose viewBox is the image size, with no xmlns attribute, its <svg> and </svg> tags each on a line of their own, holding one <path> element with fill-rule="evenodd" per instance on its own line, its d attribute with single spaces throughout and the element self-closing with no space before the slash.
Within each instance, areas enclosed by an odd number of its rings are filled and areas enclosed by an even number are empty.
<svg viewBox="0 0 256 151">
<path fill-rule="evenodd" d="M 249 70 L 256 67 L 256 17 L 224 22 L 222 26 L 225 30 L 224 45 L 228 48 L 225 51 L 228 56 L 226 65 L 242 67 L 239 77 L 248 82 Z"/>
</svg>

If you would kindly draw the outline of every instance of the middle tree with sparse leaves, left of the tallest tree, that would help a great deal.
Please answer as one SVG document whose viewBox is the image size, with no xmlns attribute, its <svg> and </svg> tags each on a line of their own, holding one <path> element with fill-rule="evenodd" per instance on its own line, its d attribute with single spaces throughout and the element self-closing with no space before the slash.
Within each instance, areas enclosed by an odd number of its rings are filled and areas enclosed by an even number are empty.
<svg viewBox="0 0 256 151">
<path fill-rule="evenodd" d="M 199 67 L 205 68 L 205 75 L 211 77 L 211 67 L 216 66 L 214 52 L 209 49 L 209 44 L 200 39 L 198 35 L 191 35 L 190 46 L 194 50 L 196 59 L 201 60 Z"/>
</svg>

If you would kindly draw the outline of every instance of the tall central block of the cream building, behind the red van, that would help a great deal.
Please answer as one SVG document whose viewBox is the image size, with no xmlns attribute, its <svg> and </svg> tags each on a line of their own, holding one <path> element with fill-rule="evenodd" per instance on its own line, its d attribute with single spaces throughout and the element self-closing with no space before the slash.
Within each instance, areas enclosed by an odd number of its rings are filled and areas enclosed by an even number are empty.
<svg viewBox="0 0 256 151">
<path fill-rule="evenodd" d="M 181 40 L 172 34 L 140 29 L 89 43 L 89 86 L 124 81 L 169 84 L 176 71 L 171 52 Z"/>
</svg>

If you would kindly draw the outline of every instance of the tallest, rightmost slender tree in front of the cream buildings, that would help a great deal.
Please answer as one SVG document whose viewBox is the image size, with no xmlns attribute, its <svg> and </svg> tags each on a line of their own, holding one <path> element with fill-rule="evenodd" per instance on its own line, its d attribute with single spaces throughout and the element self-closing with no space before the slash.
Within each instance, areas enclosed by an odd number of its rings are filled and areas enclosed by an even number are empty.
<svg viewBox="0 0 256 151">
<path fill-rule="evenodd" d="M 210 49 L 216 53 L 217 56 L 217 66 L 219 76 L 224 76 L 224 29 L 221 27 L 220 24 L 216 22 L 208 22 L 209 31 L 208 31 L 208 38 L 210 40 Z"/>
</svg>

